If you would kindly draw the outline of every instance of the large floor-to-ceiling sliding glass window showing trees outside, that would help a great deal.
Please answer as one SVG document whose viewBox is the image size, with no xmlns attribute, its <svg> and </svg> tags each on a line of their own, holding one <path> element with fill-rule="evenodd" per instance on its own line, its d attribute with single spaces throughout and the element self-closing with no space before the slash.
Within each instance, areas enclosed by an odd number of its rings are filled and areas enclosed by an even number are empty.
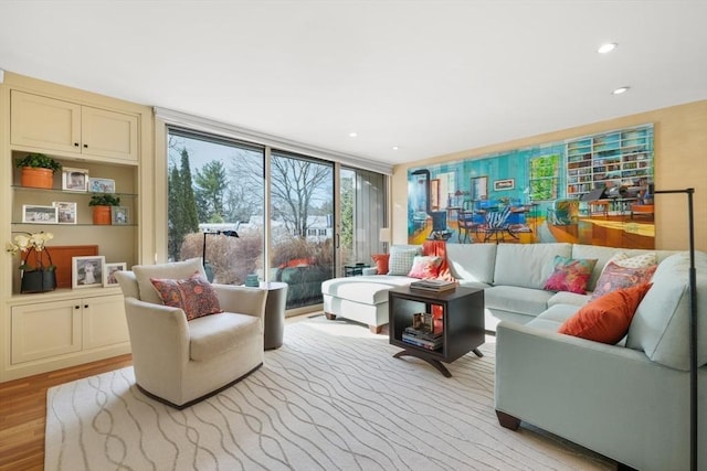
<svg viewBox="0 0 707 471">
<path fill-rule="evenodd" d="M 380 173 L 168 127 L 168 258 L 203 256 L 221 283 L 285 281 L 287 309 L 318 304 L 321 281 L 381 251 L 384 185 Z"/>
</svg>

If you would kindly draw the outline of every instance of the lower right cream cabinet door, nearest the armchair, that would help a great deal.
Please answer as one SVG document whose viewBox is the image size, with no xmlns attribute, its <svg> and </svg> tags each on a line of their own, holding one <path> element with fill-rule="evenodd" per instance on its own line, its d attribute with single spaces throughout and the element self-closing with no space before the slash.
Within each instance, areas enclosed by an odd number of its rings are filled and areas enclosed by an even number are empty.
<svg viewBox="0 0 707 471">
<path fill-rule="evenodd" d="M 122 295 L 82 300 L 84 350 L 128 341 L 128 325 Z"/>
</svg>

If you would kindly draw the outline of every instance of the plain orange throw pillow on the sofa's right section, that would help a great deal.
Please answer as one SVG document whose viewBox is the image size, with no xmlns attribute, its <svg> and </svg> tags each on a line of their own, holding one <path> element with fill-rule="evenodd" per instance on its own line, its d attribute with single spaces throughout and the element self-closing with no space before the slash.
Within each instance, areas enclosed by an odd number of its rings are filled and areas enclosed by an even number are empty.
<svg viewBox="0 0 707 471">
<path fill-rule="evenodd" d="M 651 286 L 618 289 L 597 298 L 564 321 L 558 332 L 613 345 L 629 332 L 633 314 Z"/>
</svg>

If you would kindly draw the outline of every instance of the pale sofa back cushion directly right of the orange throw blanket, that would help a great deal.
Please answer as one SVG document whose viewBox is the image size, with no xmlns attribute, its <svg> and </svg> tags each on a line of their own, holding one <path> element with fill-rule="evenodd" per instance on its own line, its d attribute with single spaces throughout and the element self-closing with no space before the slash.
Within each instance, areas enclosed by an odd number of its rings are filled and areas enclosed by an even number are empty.
<svg viewBox="0 0 707 471">
<path fill-rule="evenodd" d="M 457 280 L 494 282 L 497 244 L 447 244 L 446 261 Z"/>
</svg>

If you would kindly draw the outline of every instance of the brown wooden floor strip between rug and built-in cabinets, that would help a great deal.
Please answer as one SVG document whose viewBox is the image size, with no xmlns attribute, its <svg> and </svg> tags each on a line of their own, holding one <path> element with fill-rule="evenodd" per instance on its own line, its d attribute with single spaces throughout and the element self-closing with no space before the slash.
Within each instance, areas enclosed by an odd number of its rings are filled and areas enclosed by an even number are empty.
<svg viewBox="0 0 707 471">
<path fill-rule="evenodd" d="M 133 364 L 130 355 L 0 383 L 0 470 L 43 470 L 46 389 Z"/>
</svg>

